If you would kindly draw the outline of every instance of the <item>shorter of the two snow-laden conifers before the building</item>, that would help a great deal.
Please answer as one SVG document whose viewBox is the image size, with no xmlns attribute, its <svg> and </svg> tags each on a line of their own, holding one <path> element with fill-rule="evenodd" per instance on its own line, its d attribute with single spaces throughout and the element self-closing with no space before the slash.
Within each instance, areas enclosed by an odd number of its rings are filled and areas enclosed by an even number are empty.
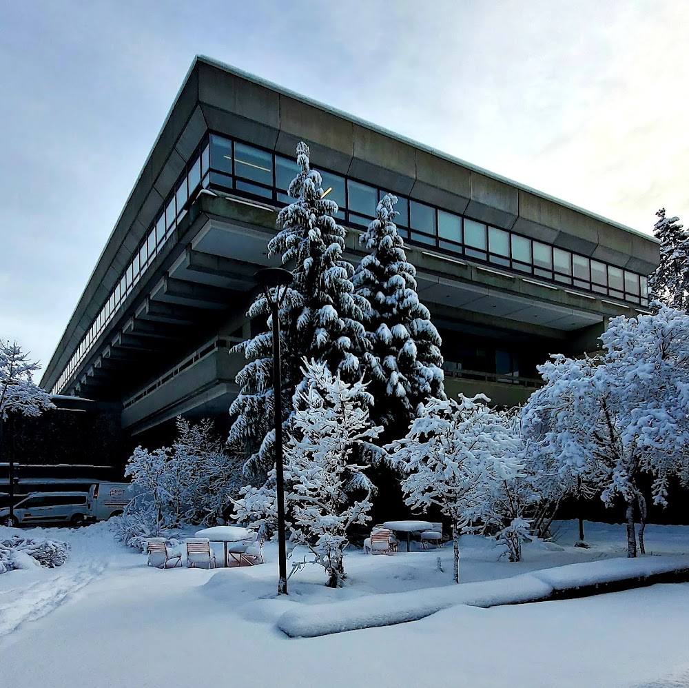
<svg viewBox="0 0 689 688">
<path fill-rule="evenodd" d="M 376 399 L 371 413 L 388 438 L 402 436 L 420 404 L 445 398 L 440 335 L 416 292 L 416 270 L 407 261 L 404 241 L 395 225 L 394 203 L 387 194 L 377 217 L 361 236 L 371 251 L 356 268 L 357 294 L 371 304 L 364 326 L 372 350 L 363 356 Z"/>
</svg>

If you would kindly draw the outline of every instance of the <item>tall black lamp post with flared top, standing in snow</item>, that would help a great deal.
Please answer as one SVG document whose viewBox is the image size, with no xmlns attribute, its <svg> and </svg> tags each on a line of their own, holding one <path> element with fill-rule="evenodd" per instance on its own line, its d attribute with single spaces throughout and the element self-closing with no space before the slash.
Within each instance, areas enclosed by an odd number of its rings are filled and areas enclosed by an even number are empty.
<svg viewBox="0 0 689 688">
<path fill-rule="evenodd" d="M 280 578 L 278 595 L 287 594 L 287 551 L 285 549 L 285 472 L 282 466 L 282 396 L 280 389 L 280 321 L 278 310 L 285 298 L 287 287 L 292 282 L 292 274 L 282 267 L 265 267 L 254 275 L 258 285 L 263 288 L 265 298 L 271 307 L 273 319 L 273 396 L 275 423 L 275 476 L 278 498 L 278 564 Z M 282 289 L 281 289 L 282 287 Z"/>
</svg>

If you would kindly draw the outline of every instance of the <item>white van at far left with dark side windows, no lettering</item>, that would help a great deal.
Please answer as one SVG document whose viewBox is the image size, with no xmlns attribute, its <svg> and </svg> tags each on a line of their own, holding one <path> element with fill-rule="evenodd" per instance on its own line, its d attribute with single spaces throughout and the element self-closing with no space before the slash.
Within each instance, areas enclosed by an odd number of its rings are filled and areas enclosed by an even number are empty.
<svg viewBox="0 0 689 688">
<path fill-rule="evenodd" d="M 10 509 L 0 509 L 0 523 L 10 527 L 34 523 L 69 523 L 74 527 L 90 520 L 89 495 L 86 492 L 32 492 Z"/>
</svg>

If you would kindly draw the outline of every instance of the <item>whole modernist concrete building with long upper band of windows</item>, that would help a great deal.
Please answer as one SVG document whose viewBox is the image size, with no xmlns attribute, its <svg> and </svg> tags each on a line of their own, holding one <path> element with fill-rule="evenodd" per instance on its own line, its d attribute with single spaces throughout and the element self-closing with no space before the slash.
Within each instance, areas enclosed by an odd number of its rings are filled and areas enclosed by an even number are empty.
<svg viewBox="0 0 689 688">
<path fill-rule="evenodd" d="M 205 57 L 194 60 L 45 370 L 43 387 L 121 405 L 136 435 L 227 414 L 252 276 L 311 147 L 349 227 L 384 192 L 443 338 L 446 387 L 523 401 L 551 352 L 596 347 L 642 312 L 654 239 Z M 275 261 L 272 264 L 276 264 Z"/>
</svg>

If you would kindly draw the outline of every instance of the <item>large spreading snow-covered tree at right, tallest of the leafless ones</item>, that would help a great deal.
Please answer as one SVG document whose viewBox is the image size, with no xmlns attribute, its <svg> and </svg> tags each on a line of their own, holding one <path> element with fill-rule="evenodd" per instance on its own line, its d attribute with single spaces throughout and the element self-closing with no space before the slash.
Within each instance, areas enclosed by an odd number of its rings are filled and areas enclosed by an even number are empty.
<svg viewBox="0 0 689 688">
<path fill-rule="evenodd" d="M 566 471 L 597 476 L 601 497 L 626 503 L 627 553 L 645 553 L 646 497 L 639 476 L 652 478 L 652 499 L 664 505 L 668 478 L 681 474 L 689 444 L 689 316 L 658 312 L 619 316 L 601 335 L 596 358 L 553 356 L 539 367 L 545 386 L 532 395 L 525 423 L 547 416 L 543 449 Z"/>
</svg>

